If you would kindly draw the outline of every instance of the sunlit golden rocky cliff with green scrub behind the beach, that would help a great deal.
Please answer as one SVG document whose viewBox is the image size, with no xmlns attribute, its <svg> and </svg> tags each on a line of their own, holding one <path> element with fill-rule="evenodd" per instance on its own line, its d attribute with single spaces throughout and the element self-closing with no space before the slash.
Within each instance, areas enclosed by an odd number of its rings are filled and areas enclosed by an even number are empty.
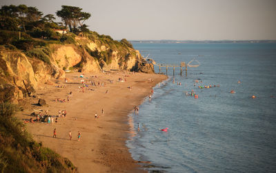
<svg viewBox="0 0 276 173">
<path fill-rule="evenodd" d="M 0 100 L 17 103 L 32 95 L 41 84 L 65 78 L 65 71 L 100 72 L 110 69 L 154 73 L 152 65 L 123 39 L 90 32 L 61 41 L 32 38 L 36 44 L 23 51 L 21 45 L 0 46 Z M 30 47 L 30 45 L 27 45 Z M 50 83 L 50 82 L 49 82 Z"/>
</svg>

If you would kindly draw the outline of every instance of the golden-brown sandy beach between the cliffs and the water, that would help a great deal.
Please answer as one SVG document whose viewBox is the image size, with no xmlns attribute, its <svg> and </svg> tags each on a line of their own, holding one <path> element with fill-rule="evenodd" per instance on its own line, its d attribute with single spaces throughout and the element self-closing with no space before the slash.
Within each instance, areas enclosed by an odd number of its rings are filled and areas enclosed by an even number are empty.
<svg viewBox="0 0 276 173">
<path fill-rule="evenodd" d="M 49 115 L 56 116 L 59 110 L 66 110 L 66 117 L 59 117 L 57 123 L 28 123 L 28 131 L 36 141 L 42 141 L 43 146 L 70 159 L 79 172 L 143 172 L 126 147 L 128 135 L 131 135 L 128 114 L 150 95 L 152 87 L 167 77 L 122 71 L 84 73 L 88 87 L 94 91 L 86 87 L 82 93 L 82 89 L 79 89 L 80 75 L 81 73 L 66 73 L 67 83 L 64 80 L 53 80 L 52 84 L 45 84 L 45 88 L 38 90 L 36 95 L 46 100 L 47 106 L 35 105 L 38 97 L 30 98 L 32 106 L 18 113 L 17 117 L 30 119 L 30 113 L 46 109 Z M 119 78 L 124 82 L 118 82 Z M 90 80 L 106 82 L 106 86 L 92 87 Z M 65 84 L 65 87 L 57 87 L 61 84 Z M 72 95 L 67 102 L 70 91 Z M 66 102 L 57 102 L 56 98 L 66 99 Z M 95 119 L 95 113 L 99 118 Z M 54 128 L 57 129 L 57 138 L 52 137 Z M 69 130 L 72 132 L 71 141 Z M 81 132 L 80 141 L 77 141 L 78 131 Z"/>
</svg>

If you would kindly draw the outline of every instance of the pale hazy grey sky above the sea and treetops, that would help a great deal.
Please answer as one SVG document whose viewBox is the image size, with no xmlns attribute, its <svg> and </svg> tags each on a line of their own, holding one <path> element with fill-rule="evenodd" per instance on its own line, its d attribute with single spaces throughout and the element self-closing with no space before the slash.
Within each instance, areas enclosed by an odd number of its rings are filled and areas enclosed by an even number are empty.
<svg viewBox="0 0 276 173">
<path fill-rule="evenodd" d="M 90 30 L 117 40 L 276 40 L 275 0 L 1 0 L 55 14 L 90 12 Z M 60 19 L 59 19 L 60 20 Z"/>
</svg>

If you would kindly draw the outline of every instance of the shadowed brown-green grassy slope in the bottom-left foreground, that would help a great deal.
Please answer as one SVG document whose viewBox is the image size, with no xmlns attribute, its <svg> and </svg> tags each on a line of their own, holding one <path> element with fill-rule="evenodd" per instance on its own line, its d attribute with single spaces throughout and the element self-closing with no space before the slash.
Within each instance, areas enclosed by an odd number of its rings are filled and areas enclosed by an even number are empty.
<svg viewBox="0 0 276 173">
<path fill-rule="evenodd" d="M 34 141 L 13 116 L 15 110 L 0 103 L 0 172 L 77 172 L 68 159 Z"/>
</svg>

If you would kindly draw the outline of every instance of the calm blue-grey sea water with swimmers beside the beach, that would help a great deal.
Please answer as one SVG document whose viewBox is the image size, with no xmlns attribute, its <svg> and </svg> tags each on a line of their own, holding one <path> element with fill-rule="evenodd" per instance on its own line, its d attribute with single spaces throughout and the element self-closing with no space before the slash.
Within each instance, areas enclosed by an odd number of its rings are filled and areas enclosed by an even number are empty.
<svg viewBox="0 0 276 173">
<path fill-rule="evenodd" d="M 169 69 L 170 78 L 155 87 L 152 100 L 145 100 L 139 115 L 130 115 L 140 131 L 127 146 L 134 159 L 152 163 L 146 170 L 276 172 L 275 43 L 133 45 L 161 64 L 200 62 L 188 67 L 187 77 L 177 69 L 175 83 Z M 197 79 L 202 83 L 194 86 Z M 198 88 L 210 84 L 219 87 Z M 186 96 L 192 89 L 198 99 Z"/>
</svg>

